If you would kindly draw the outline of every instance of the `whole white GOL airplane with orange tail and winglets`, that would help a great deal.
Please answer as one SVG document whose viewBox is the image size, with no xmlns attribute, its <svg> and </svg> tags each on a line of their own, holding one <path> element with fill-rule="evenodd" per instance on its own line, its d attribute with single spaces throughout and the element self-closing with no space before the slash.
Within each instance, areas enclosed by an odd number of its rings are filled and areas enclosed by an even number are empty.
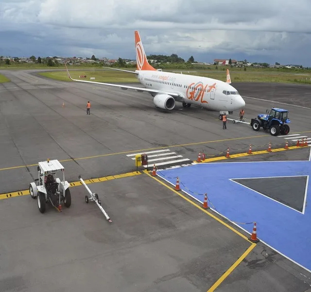
<svg viewBox="0 0 311 292">
<path fill-rule="evenodd" d="M 228 69 L 226 82 L 208 77 L 163 72 L 162 69 L 156 70 L 147 60 L 138 31 L 135 31 L 135 48 L 137 70 L 104 68 L 136 74 L 144 87 L 72 79 L 64 61 L 67 74 L 73 81 L 112 86 L 122 90 L 148 92 L 154 97 L 155 107 L 164 110 L 173 110 L 177 101 L 181 102 L 184 108 L 196 105 L 207 110 L 219 111 L 219 119 L 222 119 L 224 112 L 232 114 L 233 110 L 244 108 L 245 101 L 242 96 L 230 85 L 231 78 Z"/>
</svg>

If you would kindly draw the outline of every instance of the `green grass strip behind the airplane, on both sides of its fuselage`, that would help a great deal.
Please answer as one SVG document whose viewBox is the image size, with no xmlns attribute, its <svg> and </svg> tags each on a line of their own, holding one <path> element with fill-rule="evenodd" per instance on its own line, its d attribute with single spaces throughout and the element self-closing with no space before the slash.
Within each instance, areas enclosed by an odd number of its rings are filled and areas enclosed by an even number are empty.
<svg viewBox="0 0 311 292">
<path fill-rule="evenodd" d="M 69 71 L 73 79 L 90 80 L 90 77 L 95 77 L 96 82 L 120 82 L 120 83 L 132 83 L 138 82 L 138 79 L 134 74 L 119 72 L 119 71 Z M 204 77 L 210 77 L 219 80 L 226 80 L 225 72 L 189 72 L 183 71 L 184 74 L 199 75 Z M 43 76 L 61 80 L 71 81 L 66 71 L 62 72 L 44 72 L 39 73 Z M 86 78 L 80 78 L 79 75 L 86 75 Z M 288 74 L 288 73 L 230 73 L 231 81 L 235 82 L 271 82 L 271 83 L 300 83 L 300 84 L 311 84 L 311 74 L 299 75 L 299 74 Z"/>
</svg>

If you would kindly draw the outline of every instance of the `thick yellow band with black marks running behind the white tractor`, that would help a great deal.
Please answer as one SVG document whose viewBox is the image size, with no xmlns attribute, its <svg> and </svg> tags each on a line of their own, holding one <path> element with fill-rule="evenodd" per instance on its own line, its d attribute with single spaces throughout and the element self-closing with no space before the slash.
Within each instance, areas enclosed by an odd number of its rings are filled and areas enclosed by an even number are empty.
<svg viewBox="0 0 311 292">
<path fill-rule="evenodd" d="M 131 176 L 136 176 L 136 175 L 139 175 L 139 174 L 141 174 L 140 171 L 138 171 L 138 172 L 136 172 L 136 171 L 126 172 L 126 173 L 121 173 L 121 174 L 116 174 L 116 175 L 109 175 L 109 176 L 102 177 L 102 178 L 89 179 L 89 180 L 85 180 L 84 182 L 86 184 L 89 184 L 89 183 L 102 183 L 102 182 L 111 181 L 111 180 L 115 180 L 115 179 L 121 179 L 121 178 L 127 178 L 127 177 L 131 177 Z M 76 182 L 70 183 L 70 187 L 79 186 L 79 185 L 82 185 L 82 183 L 80 181 L 76 181 Z M 29 195 L 29 194 L 30 194 L 29 190 L 22 190 L 22 191 L 17 191 L 17 192 L 0 194 L 0 200 L 14 198 L 14 197 L 20 197 L 20 196 L 26 196 L 26 195 Z"/>
</svg>

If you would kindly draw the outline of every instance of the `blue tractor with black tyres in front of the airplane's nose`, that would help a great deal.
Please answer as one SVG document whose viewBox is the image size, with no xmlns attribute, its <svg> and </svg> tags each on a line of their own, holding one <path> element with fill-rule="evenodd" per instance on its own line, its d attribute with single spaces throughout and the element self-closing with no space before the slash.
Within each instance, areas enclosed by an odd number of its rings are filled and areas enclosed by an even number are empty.
<svg viewBox="0 0 311 292">
<path fill-rule="evenodd" d="M 273 136 L 287 135 L 290 132 L 290 127 L 287 124 L 291 122 L 287 114 L 288 110 L 272 108 L 266 110 L 266 114 L 259 114 L 257 118 L 251 119 L 250 126 L 254 131 L 259 131 L 261 127 L 265 131 L 270 131 Z"/>
</svg>

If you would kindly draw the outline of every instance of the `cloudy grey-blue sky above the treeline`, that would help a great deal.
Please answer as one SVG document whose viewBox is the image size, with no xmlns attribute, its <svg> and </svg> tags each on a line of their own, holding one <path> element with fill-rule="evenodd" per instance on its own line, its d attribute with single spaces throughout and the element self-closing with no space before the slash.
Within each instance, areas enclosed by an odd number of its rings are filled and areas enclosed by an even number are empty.
<svg viewBox="0 0 311 292">
<path fill-rule="evenodd" d="M 0 55 L 190 55 L 311 67 L 311 0 L 0 0 Z"/>
</svg>

